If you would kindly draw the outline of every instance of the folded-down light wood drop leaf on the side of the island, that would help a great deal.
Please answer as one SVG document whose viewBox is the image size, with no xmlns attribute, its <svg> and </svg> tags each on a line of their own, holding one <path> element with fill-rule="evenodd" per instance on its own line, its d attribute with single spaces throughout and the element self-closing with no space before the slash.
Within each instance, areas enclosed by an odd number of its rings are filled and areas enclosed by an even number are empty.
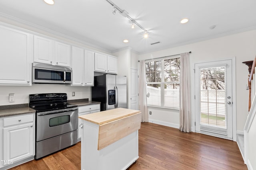
<svg viewBox="0 0 256 170">
<path fill-rule="evenodd" d="M 98 150 L 140 129 L 141 113 L 104 123 L 99 127 Z"/>
</svg>

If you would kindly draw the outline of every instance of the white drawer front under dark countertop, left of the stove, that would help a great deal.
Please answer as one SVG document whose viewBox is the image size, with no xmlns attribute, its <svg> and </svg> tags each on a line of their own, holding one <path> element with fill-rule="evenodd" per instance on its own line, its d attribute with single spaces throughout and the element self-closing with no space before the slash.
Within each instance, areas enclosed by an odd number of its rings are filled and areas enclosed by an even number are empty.
<svg viewBox="0 0 256 170">
<path fill-rule="evenodd" d="M 22 123 L 32 122 L 34 121 L 34 115 L 23 115 L 23 116 L 15 116 L 4 118 L 4 127 L 10 125 L 18 125 Z"/>
</svg>

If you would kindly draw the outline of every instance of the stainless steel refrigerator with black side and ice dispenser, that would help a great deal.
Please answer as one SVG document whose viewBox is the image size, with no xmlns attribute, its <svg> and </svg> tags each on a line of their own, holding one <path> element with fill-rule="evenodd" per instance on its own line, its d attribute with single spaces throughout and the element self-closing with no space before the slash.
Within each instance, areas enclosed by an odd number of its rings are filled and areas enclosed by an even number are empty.
<svg viewBox="0 0 256 170">
<path fill-rule="evenodd" d="M 94 76 L 92 101 L 101 102 L 100 111 L 118 107 L 127 108 L 126 76 L 113 74 Z"/>
</svg>

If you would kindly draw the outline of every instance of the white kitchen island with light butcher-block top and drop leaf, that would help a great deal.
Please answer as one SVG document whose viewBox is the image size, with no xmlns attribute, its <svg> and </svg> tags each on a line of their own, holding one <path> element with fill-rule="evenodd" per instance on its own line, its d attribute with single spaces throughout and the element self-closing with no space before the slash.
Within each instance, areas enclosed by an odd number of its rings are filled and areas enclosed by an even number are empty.
<svg viewBox="0 0 256 170">
<path fill-rule="evenodd" d="M 138 156 L 141 112 L 117 108 L 82 119 L 81 169 L 125 170 Z"/>
</svg>

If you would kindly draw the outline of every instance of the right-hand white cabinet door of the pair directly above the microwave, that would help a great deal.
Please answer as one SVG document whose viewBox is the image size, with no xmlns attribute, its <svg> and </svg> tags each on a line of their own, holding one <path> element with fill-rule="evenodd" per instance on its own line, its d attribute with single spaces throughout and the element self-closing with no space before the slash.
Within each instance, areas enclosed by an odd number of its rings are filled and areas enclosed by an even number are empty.
<svg viewBox="0 0 256 170">
<path fill-rule="evenodd" d="M 54 65 L 70 67 L 70 45 L 55 42 L 55 60 Z"/>
</svg>

